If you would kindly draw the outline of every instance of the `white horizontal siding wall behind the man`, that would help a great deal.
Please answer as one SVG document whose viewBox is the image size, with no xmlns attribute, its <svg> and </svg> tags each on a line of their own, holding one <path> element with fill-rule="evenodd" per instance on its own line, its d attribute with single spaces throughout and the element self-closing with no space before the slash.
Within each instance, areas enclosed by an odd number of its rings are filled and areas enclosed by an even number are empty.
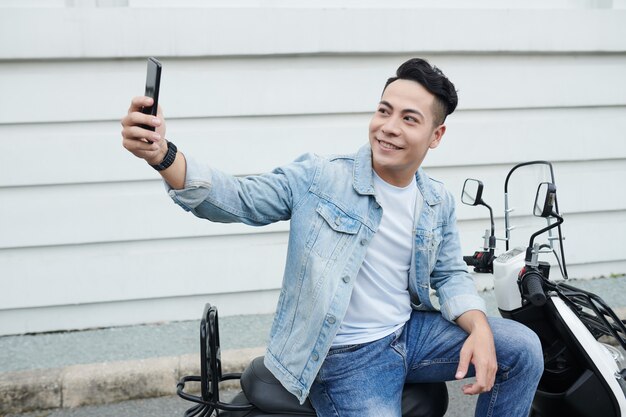
<svg viewBox="0 0 626 417">
<path fill-rule="evenodd" d="M 238 175 L 355 150 L 430 59 L 460 90 L 430 174 L 500 216 L 509 167 L 551 160 L 570 275 L 626 272 L 624 2 L 370 3 L 0 1 L 0 334 L 273 311 L 288 224 L 198 220 L 121 147 L 151 55 L 167 136 Z M 466 253 L 485 215 L 459 207 Z"/>
</svg>

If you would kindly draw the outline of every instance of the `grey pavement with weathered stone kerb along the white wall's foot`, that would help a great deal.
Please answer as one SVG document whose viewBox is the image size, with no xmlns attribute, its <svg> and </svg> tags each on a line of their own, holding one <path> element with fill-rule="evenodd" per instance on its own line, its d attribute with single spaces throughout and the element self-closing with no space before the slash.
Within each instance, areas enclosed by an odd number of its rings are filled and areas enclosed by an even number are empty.
<svg viewBox="0 0 626 417">
<path fill-rule="evenodd" d="M 626 318 L 626 277 L 570 281 Z M 498 316 L 493 290 L 481 295 Z M 271 321 L 220 316 L 224 372 L 241 372 L 264 353 Z M 0 417 L 171 396 L 199 366 L 199 320 L 0 337 Z"/>
</svg>

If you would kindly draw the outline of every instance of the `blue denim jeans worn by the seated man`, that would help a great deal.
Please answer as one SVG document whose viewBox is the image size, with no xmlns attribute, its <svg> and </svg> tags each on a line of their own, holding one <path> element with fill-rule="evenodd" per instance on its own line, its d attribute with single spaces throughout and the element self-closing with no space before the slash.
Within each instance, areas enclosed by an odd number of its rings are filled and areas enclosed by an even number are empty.
<svg viewBox="0 0 626 417">
<path fill-rule="evenodd" d="M 539 339 L 517 322 L 489 318 L 498 372 L 476 416 L 527 417 L 543 372 Z M 436 312 L 414 311 L 380 340 L 330 350 L 309 398 L 319 417 L 400 417 L 404 382 L 452 381 L 467 333 Z M 470 366 L 468 377 L 474 376 Z"/>
</svg>

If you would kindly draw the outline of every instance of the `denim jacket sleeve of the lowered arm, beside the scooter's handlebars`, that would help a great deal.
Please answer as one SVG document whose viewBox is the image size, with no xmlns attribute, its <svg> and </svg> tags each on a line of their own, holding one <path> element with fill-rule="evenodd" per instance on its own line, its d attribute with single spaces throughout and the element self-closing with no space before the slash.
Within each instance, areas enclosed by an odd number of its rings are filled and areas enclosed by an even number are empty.
<svg viewBox="0 0 626 417">
<path fill-rule="evenodd" d="M 439 299 L 443 317 L 449 321 L 456 320 L 469 310 L 480 310 L 486 314 L 485 301 L 478 295 L 474 279 L 463 261 L 455 202 L 447 191 L 444 204 L 447 205 L 444 213 L 449 212 L 449 216 L 442 222 L 442 240 L 431 272 L 431 287 Z"/>
</svg>

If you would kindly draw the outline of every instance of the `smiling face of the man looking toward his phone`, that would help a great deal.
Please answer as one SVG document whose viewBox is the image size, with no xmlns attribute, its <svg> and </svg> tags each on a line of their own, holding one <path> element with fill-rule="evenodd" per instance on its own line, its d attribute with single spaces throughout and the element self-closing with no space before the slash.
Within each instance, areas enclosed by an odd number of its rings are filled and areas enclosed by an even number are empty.
<svg viewBox="0 0 626 417">
<path fill-rule="evenodd" d="M 383 93 L 370 121 L 374 171 L 386 182 L 408 185 L 428 149 L 436 148 L 446 127 L 435 125 L 435 96 L 410 80 L 396 80 Z"/>
</svg>

